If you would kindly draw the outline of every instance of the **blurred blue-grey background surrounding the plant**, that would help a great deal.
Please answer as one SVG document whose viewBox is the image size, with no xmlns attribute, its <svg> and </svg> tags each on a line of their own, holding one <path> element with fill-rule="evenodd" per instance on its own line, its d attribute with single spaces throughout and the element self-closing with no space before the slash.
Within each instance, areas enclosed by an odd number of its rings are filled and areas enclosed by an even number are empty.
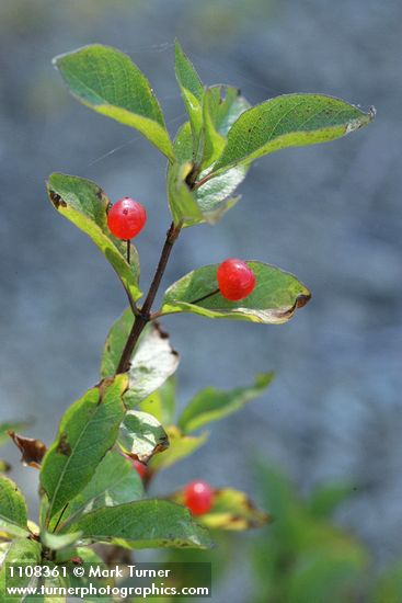
<svg viewBox="0 0 402 603">
<path fill-rule="evenodd" d="M 90 178 L 112 200 L 147 206 L 142 288 L 169 224 L 163 158 L 74 102 L 51 57 L 94 42 L 119 47 L 150 79 L 174 133 L 185 120 L 177 36 L 205 83 L 236 84 L 252 103 L 323 92 L 378 115 L 336 143 L 255 162 L 241 203 L 177 243 L 165 285 L 239 255 L 296 273 L 313 299 L 280 327 L 165 320 L 182 354 L 182 403 L 209 384 L 248 384 L 271 368 L 277 378 L 156 490 L 199 477 L 253 492 L 257 455 L 302 490 L 346 477 L 357 491 L 340 521 L 379 565 L 401 555 L 401 21 L 397 0 L 1 0 L 0 419 L 32 417 L 30 434 L 50 443 L 60 413 L 97 380 L 105 334 L 126 305 L 92 242 L 51 208 L 46 177 Z M 19 466 L 12 446 L 1 452 L 35 513 L 37 473 Z"/>
</svg>

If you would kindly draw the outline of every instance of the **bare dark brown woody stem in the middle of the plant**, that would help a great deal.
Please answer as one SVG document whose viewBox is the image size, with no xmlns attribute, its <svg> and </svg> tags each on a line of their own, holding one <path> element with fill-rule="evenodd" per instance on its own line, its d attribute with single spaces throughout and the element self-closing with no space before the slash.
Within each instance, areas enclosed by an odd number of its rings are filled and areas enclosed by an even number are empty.
<svg viewBox="0 0 402 603">
<path fill-rule="evenodd" d="M 133 325 L 133 329 L 130 331 L 130 334 L 128 335 L 126 345 L 123 350 L 123 354 L 116 369 L 116 375 L 119 373 L 126 373 L 128 371 L 133 351 L 138 342 L 138 339 L 141 332 L 143 331 L 145 327 L 151 319 L 150 310 L 154 302 L 154 298 L 157 296 L 159 285 L 161 284 L 161 280 L 164 274 L 171 251 L 173 249 L 173 244 L 175 243 L 181 229 L 182 229 L 182 224 L 174 225 L 174 223 L 172 223 L 168 230 L 166 239 L 164 241 L 164 246 L 161 252 L 161 257 L 159 259 L 159 263 L 158 263 L 151 286 L 149 287 L 149 292 L 141 310 L 136 316 L 135 322 Z"/>
</svg>

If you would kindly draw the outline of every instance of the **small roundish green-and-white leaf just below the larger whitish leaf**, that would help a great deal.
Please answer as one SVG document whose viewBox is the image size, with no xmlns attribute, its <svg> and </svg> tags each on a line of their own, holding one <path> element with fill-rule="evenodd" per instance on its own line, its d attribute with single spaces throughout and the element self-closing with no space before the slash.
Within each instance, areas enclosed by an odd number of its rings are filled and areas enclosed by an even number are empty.
<svg viewBox="0 0 402 603">
<path fill-rule="evenodd" d="M 169 447 L 169 437 L 152 414 L 129 410 L 120 425 L 117 443 L 127 456 L 148 463 L 154 454 Z"/>
</svg>

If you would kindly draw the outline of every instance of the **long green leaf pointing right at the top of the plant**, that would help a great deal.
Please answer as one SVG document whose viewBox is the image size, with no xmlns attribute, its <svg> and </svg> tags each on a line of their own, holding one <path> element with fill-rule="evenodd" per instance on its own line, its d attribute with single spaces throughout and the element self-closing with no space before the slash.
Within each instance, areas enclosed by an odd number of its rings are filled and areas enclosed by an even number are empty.
<svg viewBox="0 0 402 603">
<path fill-rule="evenodd" d="M 214 174 L 286 147 L 340 138 L 375 116 L 340 99 L 322 94 L 285 94 L 249 109 L 234 122 Z"/>
</svg>

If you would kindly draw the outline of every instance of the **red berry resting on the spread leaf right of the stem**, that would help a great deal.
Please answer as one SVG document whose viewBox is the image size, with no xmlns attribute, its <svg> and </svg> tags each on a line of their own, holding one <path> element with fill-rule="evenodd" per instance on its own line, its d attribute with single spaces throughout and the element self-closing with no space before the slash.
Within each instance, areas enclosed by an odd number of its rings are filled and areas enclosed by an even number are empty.
<svg viewBox="0 0 402 603">
<path fill-rule="evenodd" d="M 242 260 L 230 258 L 217 270 L 219 291 L 226 299 L 244 299 L 255 287 L 255 274 Z"/>
</svg>

